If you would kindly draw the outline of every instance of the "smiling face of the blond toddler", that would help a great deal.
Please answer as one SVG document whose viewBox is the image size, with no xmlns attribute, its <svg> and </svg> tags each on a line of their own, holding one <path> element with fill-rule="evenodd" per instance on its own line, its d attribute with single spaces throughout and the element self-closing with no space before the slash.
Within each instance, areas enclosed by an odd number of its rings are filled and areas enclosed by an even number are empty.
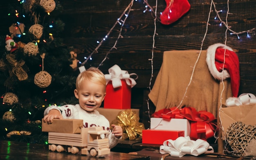
<svg viewBox="0 0 256 160">
<path fill-rule="evenodd" d="M 83 81 L 79 90 L 74 90 L 79 105 L 86 111 L 94 111 L 101 106 L 106 95 L 106 85 L 100 85 L 89 80 Z"/>
</svg>

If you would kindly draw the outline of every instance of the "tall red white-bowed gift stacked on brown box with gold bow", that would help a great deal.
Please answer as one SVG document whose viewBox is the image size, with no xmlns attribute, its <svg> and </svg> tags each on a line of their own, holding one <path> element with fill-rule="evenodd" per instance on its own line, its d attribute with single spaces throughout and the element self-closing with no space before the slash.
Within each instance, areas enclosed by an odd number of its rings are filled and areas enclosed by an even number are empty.
<svg viewBox="0 0 256 160">
<path fill-rule="evenodd" d="M 107 85 L 104 106 L 97 110 L 111 124 L 122 127 L 122 139 L 141 140 L 145 127 L 143 123 L 139 123 L 139 109 L 131 109 L 131 88 L 136 82 L 130 75 L 137 75 L 121 70 L 117 65 L 109 68 L 108 72 L 105 75 Z"/>
</svg>

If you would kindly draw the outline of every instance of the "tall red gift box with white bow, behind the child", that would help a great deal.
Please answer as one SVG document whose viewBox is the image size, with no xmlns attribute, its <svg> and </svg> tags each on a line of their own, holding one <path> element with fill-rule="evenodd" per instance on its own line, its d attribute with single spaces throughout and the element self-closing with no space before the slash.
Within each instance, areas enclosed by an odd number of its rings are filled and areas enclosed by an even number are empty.
<svg viewBox="0 0 256 160">
<path fill-rule="evenodd" d="M 104 108 L 130 109 L 131 88 L 136 85 L 135 79 L 137 79 L 137 75 L 121 70 L 116 64 L 109 68 L 108 72 L 109 74 L 105 75 L 107 94 L 104 99 Z M 136 78 L 131 78 L 131 75 L 136 75 Z"/>
</svg>

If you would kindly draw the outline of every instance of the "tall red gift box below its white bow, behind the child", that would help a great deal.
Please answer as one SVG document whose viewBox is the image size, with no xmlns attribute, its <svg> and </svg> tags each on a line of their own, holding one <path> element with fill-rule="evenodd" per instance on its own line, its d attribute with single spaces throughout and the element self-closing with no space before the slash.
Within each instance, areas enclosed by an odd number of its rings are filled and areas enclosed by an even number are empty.
<svg viewBox="0 0 256 160">
<path fill-rule="evenodd" d="M 131 86 L 121 79 L 122 85 L 113 88 L 112 81 L 106 86 L 106 96 L 104 99 L 104 108 L 112 109 L 130 109 L 131 108 Z"/>
</svg>

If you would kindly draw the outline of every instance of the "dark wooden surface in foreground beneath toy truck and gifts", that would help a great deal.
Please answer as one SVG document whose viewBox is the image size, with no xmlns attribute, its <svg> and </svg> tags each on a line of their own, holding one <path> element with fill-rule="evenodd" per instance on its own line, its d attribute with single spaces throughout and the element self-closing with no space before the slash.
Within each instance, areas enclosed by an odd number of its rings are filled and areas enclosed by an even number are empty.
<svg viewBox="0 0 256 160">
<path fill-rule="evenodd" d="M 125 148 L 123 149 L 125 150 Z M 153 148 L 141 149 L 132 153 L 111 151 L 104 157 L 91 157 L 79 153 L 74 155 L 67 152 L 52 152 L 48 150 L 48 145 L 0 140 L 0 160 L 238 160 L 238 158 L 220 153 L 204 153 L 200 156 L 186 154 L 177 158 L 170 154 L 161 154 L 159 149 Z"/>
</svg>

